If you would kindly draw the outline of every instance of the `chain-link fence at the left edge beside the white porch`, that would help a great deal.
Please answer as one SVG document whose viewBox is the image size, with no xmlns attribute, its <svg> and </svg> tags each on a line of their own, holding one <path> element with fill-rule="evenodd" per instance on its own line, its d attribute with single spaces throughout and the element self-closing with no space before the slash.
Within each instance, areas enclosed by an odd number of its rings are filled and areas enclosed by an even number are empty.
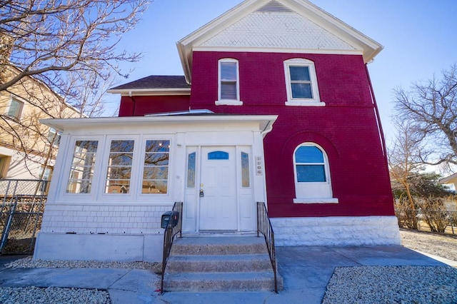
<svg viewBox="0 0 457 304">
<path fill-rule="evenodd" d="M 49 181 L 0 180 L 0 253 L 33 253 Z"/>
</svg>

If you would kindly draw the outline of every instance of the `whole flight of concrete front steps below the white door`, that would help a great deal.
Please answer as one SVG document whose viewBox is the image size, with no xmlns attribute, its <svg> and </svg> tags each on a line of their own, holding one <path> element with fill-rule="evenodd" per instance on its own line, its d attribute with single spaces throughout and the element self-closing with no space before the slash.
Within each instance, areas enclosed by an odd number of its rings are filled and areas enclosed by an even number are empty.
<svg viewBox="0 0 457 304">
<path fill-rule="evenodd" d="M 278 275 L 278 288 L 283 281 Z M 178 238 L 166 265 L 164 291 L 274 290 L 274 274 L 263 237 Z"/>
</svg>

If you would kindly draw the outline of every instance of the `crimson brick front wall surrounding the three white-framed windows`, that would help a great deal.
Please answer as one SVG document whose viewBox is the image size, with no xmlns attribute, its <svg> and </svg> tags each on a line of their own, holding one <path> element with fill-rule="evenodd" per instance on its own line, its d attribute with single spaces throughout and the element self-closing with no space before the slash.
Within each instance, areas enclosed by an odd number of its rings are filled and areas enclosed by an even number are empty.
<svg viewBox="0 0 457 304">
<path fill-rule="evenodd" d="M 243 106 L 215 106 L 217 65 L 239 61 Z M 283 61 L 305 58 L 316 66 L 325 107 L 285 106 Z M 385 157 L 361 56 L 195 52 L 191 108 L 216 113 L 276 114 L 265 138 L 270 216 L 392 216 Z M 294 204 L 292 154 L 311 141 L 328 154 L 333 197 L 338 204 Z"/>
</svg>

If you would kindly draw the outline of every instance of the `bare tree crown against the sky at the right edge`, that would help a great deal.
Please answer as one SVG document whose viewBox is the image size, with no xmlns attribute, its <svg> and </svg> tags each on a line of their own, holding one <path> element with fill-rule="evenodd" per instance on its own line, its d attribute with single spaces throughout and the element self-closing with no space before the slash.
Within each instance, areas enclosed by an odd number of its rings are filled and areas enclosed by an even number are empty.
<svg viewBox="0 0 457 304">
<path fill-rule="evenodd" d="M 395 115 L 410 121 L 410 131 L 421 141 L 422 163 L 457 164 L 457 65 L 409 91 L 395 90 Z"/>
</svg>

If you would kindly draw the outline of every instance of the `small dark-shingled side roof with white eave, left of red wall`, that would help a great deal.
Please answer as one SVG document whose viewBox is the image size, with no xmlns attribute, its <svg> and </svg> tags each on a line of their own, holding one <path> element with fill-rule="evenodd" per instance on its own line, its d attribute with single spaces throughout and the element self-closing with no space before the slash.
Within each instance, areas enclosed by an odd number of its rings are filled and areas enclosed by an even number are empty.
<svg viewBox="0 0 457 304">
<path fill-rule="evenodd" d="M 136 81 L 121 84 L 110 88 L 108 93 L 134 94 L 156 93 L 156 94 L 187 94 L 191 86 L 186 82 L 184 76 L 156 76 L 151 75 L 140 78 Z"/>
</svg>

